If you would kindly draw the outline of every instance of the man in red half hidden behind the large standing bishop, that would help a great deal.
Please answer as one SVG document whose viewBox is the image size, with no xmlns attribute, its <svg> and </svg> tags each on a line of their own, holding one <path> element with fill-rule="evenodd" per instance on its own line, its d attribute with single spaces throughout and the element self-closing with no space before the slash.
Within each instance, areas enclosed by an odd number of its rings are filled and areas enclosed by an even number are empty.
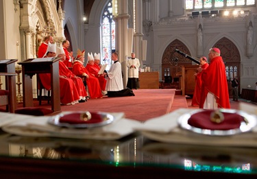
<svg viewBox="0 0 257 179">
<path fill-rule="evenodd" d="M 191 106 L 199 106 L 201 99 L 201 74 L 209 66 L 207 58 L 205 56 L 200 58 L 200 65 L 195 73 L 195 92 L 193 95 Z"/>
</svg>

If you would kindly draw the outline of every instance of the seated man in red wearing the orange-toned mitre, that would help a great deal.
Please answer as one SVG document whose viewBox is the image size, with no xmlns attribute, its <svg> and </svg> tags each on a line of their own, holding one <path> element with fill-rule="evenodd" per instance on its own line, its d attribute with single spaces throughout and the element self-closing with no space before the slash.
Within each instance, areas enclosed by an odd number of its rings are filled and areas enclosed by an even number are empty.
<svg viewBox="0 0 257 179">
<path fill-rule="evenodd" d="M 78 49 L 77 51 L 77 59 L 73 63 L 72 71 L 75 75 L 80 77 L 86 77 L 86 85 L 88 86 L 88 92 L 90 95 L 90 98 L 101 98 L 103 97 L 101 93 L 101 88 L 99 84 L 99 80 L 97 77 L 90 74 L 87 69 L 84 67 L 84 51 L 80 51 Z"/>
</svg>

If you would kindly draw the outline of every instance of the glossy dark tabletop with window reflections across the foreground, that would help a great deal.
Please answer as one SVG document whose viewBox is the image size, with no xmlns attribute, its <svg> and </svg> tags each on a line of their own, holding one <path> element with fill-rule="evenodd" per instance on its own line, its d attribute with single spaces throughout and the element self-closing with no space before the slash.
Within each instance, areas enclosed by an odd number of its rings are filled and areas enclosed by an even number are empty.
<svg viewBox="0 0 257 179">
<path fill-rule="evenodd" d="M 68 160 L 104 164 L 115 168 L 154 167 L 155 169 L 257 175 L 256 167 L 252 167 L 257 166 L 254 148 L 159 143 L 136 135 L 127 136 L 119 141 L 94 141 L 5 134 L 1 137 L 1 146 L 6 146 L 6 150 L 2 147 L 1 156 L 20 159 L 36 158 L 40 159 L 38 163 L 43 159 Z M 21 160 L 22 162 L 24 160 Z"/>
</svg>

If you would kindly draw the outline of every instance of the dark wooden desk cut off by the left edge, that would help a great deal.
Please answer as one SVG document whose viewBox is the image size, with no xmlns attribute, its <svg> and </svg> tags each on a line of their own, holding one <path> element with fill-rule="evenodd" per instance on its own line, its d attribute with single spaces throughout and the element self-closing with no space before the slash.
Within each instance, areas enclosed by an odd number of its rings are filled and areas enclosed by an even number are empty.
<svg viewBox="0 0 257 179">
<path fill-rule="evenodd" d="M 16 73 L 0 73 L 5 76 L 5 90 L 0 89 L 0 106 L 6 106 L 6 112 L 16 110 Z"/>
</svg>

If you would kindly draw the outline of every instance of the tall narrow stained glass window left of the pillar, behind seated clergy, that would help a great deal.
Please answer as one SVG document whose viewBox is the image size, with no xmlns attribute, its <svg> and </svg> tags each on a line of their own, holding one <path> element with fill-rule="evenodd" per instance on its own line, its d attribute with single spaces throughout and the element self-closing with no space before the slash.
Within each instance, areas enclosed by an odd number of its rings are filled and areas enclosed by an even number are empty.
<svg viewBox="0 0 257 179">
<path fill-rule="evenodd" d="M 108 71 L 112 62 L 112 50 L 115 49 L 115 23 L 112 19 L 112 1 L 106 5 L 101 22 L 101 64 L 108 64 L 106 67 Z"/>
</svg>

